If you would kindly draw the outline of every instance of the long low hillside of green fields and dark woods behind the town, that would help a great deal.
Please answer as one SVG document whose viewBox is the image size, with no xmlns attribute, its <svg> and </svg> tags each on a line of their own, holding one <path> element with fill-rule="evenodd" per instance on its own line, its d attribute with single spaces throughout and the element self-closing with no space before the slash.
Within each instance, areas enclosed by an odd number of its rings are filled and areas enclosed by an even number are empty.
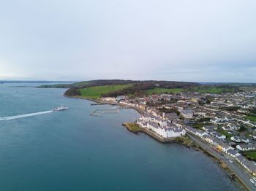
<svg viewBox="0 0 256 191">
<path fill-rule="evenodd" d="M 151 95 L 154 93 L 234 93 L 243 90 L 244 85 L 234 84 L 199 84 L 195 82 L 174 82 L 157 80 L 123 80 L 98 79 L 75 82 L 72 84 L 42 85 L 48 88 L 69 88 L 64 94 L 82 98 L 98 99 L 101 97 L 116 97 L 118 95 Z"/>
</svg>

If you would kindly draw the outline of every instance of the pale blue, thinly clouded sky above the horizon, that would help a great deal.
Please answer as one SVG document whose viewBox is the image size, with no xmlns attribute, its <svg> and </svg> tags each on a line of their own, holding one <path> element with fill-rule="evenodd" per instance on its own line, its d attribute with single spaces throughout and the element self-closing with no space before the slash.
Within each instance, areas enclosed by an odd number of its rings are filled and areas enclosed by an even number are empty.
<svg viewBox="0 0 256 191">
<path fill-rule="evenodd" d="M 0 79 L 256 82 L 255 0 L 0 1 Z"/>
</svg>

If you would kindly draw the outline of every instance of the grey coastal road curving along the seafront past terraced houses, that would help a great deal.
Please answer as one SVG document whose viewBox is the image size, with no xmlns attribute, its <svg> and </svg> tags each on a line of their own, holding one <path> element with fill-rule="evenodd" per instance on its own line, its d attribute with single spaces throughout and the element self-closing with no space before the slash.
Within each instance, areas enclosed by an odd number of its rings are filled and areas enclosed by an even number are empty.
<svg viewBox="0 0 256 191">
<path fill-rule="evenodd" d="M 236 176 L 238 176 L 239 179 L 241 179 L 241 182 L 244 182 L 244 184 L 246 184 L 246 186 L 249 190 L 256 191 L 255 185 L 252 184 L 251 182 L 249 182 L 249 179 L 252 179 L 252 175 L 249 174 L 246 171 L 246 169 L 243 168 L 234 158 L 232 159 L 233 163 L 230 163 L 227 160 L 227 158 L 225 157 L 225 155 L 220 155 L 218 152 L 214 151 L 214 149 L 212 149 L 211 145 L 205 143 L 203 140 L 200 140 L 199 138 L 197 138 L 195 136 L 190 135 L 189 133 L 187 135 L 189 136 L 190 139 L 192 139 L 197 144 L 199 144 L 200 147 L 205 149 L 207 152 L 211 153 L 211 155 L 213 155 L 214 157 L 216 157 L 219 160 L 224 161 L 227 164 L 227 166 L 230 168 L 230 170 L 233 171 L 233 173 L 236 174 Z"/>
</svg>

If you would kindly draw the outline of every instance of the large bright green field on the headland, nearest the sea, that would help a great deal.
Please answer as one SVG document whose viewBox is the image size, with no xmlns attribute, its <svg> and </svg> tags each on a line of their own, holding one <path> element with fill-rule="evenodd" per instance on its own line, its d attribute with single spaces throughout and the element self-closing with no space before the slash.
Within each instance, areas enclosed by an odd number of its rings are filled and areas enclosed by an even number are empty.
<svg viewBox="0 0 256 191">
<path fill-rule="evenodd" d="M 110 93 L 116 90 L 122 90 L 125 87 L 132 86 L 131 84 L 127 85 L 101 85 L 101 86 L 94 86 L 94 87 L 86 87 L 80 89 L 80 93 L 82 98 L 89 98 L 89 99 L 99 99 L 102 94 Z"/>
</svg>

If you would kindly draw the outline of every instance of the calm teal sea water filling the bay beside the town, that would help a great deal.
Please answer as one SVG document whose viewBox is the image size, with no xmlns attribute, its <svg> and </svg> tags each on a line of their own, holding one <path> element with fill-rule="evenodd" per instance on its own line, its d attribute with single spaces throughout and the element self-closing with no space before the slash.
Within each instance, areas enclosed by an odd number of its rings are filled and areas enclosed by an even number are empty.
<svg viewBox="0 0 256 191">
<path fill-rule="evenodd" d="M 0 121 L 0 190 L 236 190 L 206 155 L 129 133 L 132 109 L 91 117 L 113 106 L 13 86 L 0 84 L 0 117 L 70 109 Z"/>
</svg>

